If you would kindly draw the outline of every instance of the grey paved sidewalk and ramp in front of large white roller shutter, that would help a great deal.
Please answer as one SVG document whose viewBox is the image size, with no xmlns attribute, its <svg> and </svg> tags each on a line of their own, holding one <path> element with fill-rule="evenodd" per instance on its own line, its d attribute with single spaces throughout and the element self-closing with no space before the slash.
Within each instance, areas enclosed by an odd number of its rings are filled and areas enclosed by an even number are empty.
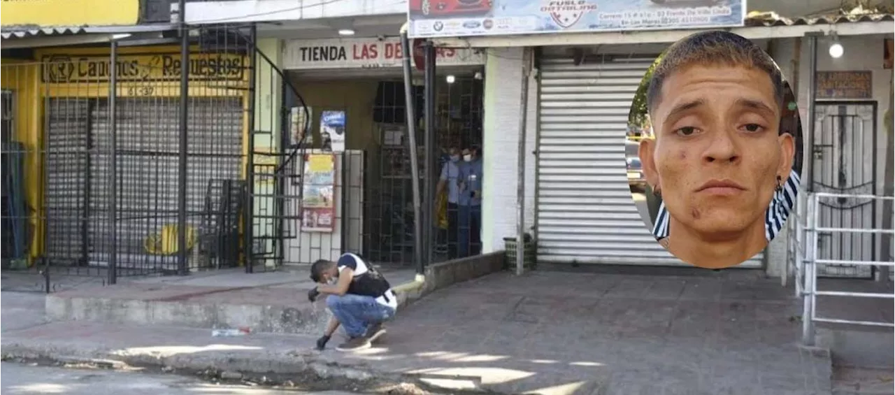
<svg viewBox="0 0 895 395">
<path fill-rule="evenodd" d="M 51 322 L 0 333 L 0 355 L 214 368 L 369 391 L 409 382 L 452 393 L 831 393 L 829 354 L 797 346 L 790 289 L 751 271 L 706 273 L 494 274 L 408 306 L 377 347 L 356 354 L 332 350 L 341 339 L 314 351 L 312 335 L 212 338 L 206 329 Z"/>
</svg>

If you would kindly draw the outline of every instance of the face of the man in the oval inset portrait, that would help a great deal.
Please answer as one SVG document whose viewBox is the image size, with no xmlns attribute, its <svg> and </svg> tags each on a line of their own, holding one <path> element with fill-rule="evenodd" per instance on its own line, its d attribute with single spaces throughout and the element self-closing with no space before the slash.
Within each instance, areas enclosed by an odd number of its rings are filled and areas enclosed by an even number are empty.
<svg viewBox="0 0 895 395">
<path fill-rule="evenodd" d="M 672 73 L 652 125 L 655 141 L 641 143 L 640 157 L 675 220 L 710 237 L 763 223 L 794 150 L 792 136 L 778 133 L 780 106 L 767 73 L 729 66 Z"/>
</svg>

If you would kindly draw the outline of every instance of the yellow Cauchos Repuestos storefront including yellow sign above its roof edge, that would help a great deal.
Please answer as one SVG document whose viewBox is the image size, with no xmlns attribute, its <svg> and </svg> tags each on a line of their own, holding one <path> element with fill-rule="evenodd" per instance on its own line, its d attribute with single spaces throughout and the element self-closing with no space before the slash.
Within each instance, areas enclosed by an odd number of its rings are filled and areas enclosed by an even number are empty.
<svg viewBox="0 0 895 395">
<path fill-rule="evenodd" d="M 2 175 L 0 217 L 13 219 L 0 227 L 4 264 L 84 275 L 104 275 L 95 269 L 111 262 L 119 275 L 182 271 L 178 228 L 197 256 L 197 246 L 214 245 L 220 258 L 229 237 L 227 264 L 237 263 L 242 206 L 220 202 L 244 195 L 251 52 L 218 41 L 220 31 L 194 30 L 182 90 L 170 18 L 148 23 L 143 5 L 0 4 L 0 154 L 18 164 Z M 209 243 L 209 234 L 221 238 Z"/>
</svg>

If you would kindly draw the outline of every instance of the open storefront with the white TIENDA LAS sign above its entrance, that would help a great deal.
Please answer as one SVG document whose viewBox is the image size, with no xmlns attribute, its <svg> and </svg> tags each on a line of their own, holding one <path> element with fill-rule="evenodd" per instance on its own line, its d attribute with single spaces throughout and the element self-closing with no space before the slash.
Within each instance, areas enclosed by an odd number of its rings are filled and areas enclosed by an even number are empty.
<svg viewBox="0 0 895 395">
<path fill-rule="evenodd" d="M 331 223 L 311 223 L 319 222 L 314 219 L 320 216 L 316 209 L 307 210 L 306 196 L 317 191 L 298 181 L 297 172 L 307 171 L 302 167 L 308 162 L 293 165 L 295 174 L 290 177 L 294 181 L 286 182 L 282 193 L 287 202 L 275 214 L 284 218 L 282 231 L 289 234 L 283 242 L 282 262 L 310 263 L 351 251 L 372 262 L 412 264 L 413 177 L 405 147 L 405 109 L 410 100 L 405 98 L 401 63 L 405 50 L 398 37 L 406 21 L 406 4 L 339 2 L 295 10 L 294 4 L 276 1 L 252 4 L 251 9 L 244 3 L 189 3 L 186 17 L 197 25 L 221 20 L 277 22 L 258 24 L 259 47 L 283 71 L 286 81 L 277 74 L 260 75 L 257 81 L 256 113 L 263 116 L 256 116 L 256 126 L 270 134 L 259 133 L 254 151 L 277 152 L 283 158 L 334 155 L 334 203 L 328 207 L 332 212 L 325 214 L 335 219 Z M 437 52 L 438 121 L 430 142 L 437 151 L 430 165 L 433 190 L 448 148 L 482 145 L 487 79 L 483 52 L 461 48 Z M 413 65 L 413 122 L 419 159 L 424 159 L 422 64 L 414 59 Z M 268 108 L 277 107 L 283 108 L 281 119 L 270 116 Z M 308 126 L 306 136 L 304 125 Z M 331 133 L 334 127 L 344 133 Z M 426 180 L 422 173 L 427 171 L 422 163 L 421 186 Z M 263 187 L 255 188 L 257 193 Z M 434 199 L 430 203 L 438 206 Z M 276 210 L 274 204 L 269 199 L 255 200 L 256 210 L 260 206 Z M 303 212 L 295 213 L 297 207 Z M 269 210 L 264 215 L 270 215 Z M 256 231 L 276 237 L 277 220 Z M 431 224 L 436 261 L 450 255 L 442 222 Z"/>
</svg>

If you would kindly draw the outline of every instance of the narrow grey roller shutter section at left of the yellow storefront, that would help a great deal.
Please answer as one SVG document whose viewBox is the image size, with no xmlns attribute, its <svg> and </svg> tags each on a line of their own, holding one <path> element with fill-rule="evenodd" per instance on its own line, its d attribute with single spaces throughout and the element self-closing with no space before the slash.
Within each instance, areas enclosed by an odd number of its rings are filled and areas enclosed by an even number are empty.
<svg viewBox="0 0 895 395">
<path fill-rule="evenodd" d="M 60 265 L 85 265 L 90 253 L 90 100 L 54 98 L 46 104 L 46 258 Z"/>
</svg>

